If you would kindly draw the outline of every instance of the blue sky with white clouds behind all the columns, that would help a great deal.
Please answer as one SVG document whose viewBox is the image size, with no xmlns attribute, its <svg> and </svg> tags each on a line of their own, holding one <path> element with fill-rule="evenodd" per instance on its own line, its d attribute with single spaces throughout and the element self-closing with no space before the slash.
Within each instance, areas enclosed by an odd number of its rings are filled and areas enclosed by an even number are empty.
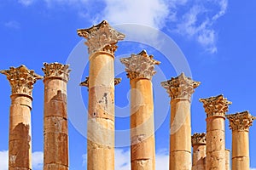
<svg viewBox="0 0 256 170">
<path fill-rule="evenodd" d="M 119 58 L 143 48 L 161 61 L 153 78 L 157 169 L 167 169 L 169 148 L 169 98 L 160 82 L 180 71 L 192 75 L 201 86 L 192 99 L 192 133 L 206 131 L 206 114 L 200 98 L 224 94 L 233 102 L 231 113 L 250 111 L 256 116 L 255 62 L 256 2 L 253 0 L 6 0 L 0 3 L 0 69 L 26 65 L 43 75 L 44 62 L 70 61 L 68 111 L 70 169 L 86 167 L 86 88 L 76 86 L 88 75 L 88 54 L 76 30 L 102 20 L 119 28 L 127 39 L 119 42 L 116 73 L 123 81 L 116 86 L 116 169 L 130 169 L 129 80 Z M 77 81 L 77 82 L 76 82 Z M 7 165 L 10 87 L 0 77 L 0 170 Z M 74 88 L 77 87 L 77 88 Z M 76 98 L 77 95 L 77 98 Z M 33 169 L 42 169 L 44 84 L 33 90 Z M 77 100 L 81 100 L 78 102 Z M 82 103 L 85 109 L 76 110 Z M 231 131 L 226 121 L 226 147 L 231 149 Z M 251 167 L 256 167 L 256 126 L 250 128 Z"/>
</svg>

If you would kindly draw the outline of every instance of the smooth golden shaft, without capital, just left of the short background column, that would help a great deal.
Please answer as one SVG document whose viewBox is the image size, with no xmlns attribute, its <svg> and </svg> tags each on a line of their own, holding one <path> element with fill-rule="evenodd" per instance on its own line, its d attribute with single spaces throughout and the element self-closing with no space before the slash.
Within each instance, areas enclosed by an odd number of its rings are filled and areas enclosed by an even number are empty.
<svg viewBox="0 0 256 170">
<path fill-rule="evenodd" d="M 189 99 L 171 101 L 170 170 L 191 169 L 191 120 Z"/>
</svg>

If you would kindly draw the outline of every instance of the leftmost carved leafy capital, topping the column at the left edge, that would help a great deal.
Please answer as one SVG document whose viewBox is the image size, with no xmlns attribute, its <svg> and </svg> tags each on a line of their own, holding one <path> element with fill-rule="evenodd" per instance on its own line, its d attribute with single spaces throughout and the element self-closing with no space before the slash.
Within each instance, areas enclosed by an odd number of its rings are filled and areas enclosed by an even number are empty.
<svg viewBox="0 0 256 170">
<path fill-rule="evenodd" d="M 9 67 L 9 70 L 0 71 L 9 80 L 12 94 L 26 94 L 32 96 L 33 84 L 43 77 L 32 70 L 28 70 L 25 65 L 19 67 Z"/>
</svg>

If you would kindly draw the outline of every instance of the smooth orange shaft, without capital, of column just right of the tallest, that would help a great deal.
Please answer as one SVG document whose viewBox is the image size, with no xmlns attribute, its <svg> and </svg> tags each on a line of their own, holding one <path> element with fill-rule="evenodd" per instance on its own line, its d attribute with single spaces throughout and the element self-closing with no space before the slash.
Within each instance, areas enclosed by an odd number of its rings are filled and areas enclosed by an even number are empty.
<svg viewBox="0 0 256 170">
<path fill-rule="evenodd" d="M 148 79 L 131 80 L 131 169 L 155 169 L 154 101 Z"/>
</svg>

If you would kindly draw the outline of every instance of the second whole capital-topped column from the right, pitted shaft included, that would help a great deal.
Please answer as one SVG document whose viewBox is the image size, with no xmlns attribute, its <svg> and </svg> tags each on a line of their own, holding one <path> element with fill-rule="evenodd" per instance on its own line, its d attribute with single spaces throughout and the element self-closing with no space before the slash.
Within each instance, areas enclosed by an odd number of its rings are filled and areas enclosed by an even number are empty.
<svg viewBox="0 0 256 170">
<path fill-rule="evenodd" d="M 230 101 L 223 95 L 200 99 L 207 113 L 207 170 L 225 169 L 225 113 Z"/>
</svg>

